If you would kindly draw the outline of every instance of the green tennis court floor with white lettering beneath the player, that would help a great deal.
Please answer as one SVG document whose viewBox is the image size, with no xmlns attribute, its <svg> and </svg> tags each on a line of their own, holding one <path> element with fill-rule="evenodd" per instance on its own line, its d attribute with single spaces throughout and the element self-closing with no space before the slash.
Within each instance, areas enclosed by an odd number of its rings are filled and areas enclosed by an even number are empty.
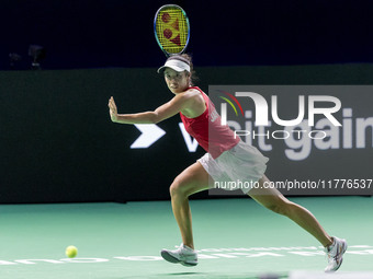
<svg viewBox="0 0 373 279">
<path fill-rule="evenodd" d="M 211 199 L 191 201 L 196 267 L 159 255 L 181 242 L 169 201 L 0 206 L 0 278 L 373 278 L 371 197 L 291 200 L 348 240 L 337 274 L 325 277 L 321 247 L 291 220 L 251 199 Z"/>
</svg>

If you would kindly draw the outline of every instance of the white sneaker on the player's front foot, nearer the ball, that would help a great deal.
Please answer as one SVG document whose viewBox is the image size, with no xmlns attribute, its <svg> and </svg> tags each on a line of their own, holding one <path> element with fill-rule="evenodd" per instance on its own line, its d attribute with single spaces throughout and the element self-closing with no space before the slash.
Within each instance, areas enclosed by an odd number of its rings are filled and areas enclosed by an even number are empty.
<svg viewBox="0 0 373 279">
<path fill-rule="evenodd" d="M 173 264 L 181 264 L 183 266 L 196 266 L 199 264 L 197 254 L 191 247 L 181 243 L 177 249 L 162 249 L 160 252 L 162 258 Z"/>
</svg>

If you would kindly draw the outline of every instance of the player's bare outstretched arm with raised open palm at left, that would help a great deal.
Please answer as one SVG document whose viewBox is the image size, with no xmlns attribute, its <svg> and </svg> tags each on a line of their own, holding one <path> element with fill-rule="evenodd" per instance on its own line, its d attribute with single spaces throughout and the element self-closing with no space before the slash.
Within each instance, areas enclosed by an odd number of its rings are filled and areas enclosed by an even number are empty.
<svg viewBox="0 0 373 279">
<path fill-rule="evenodd" d="M 118 114 L 114 98 L 109 100 L 110 117 L 113 123 L 120 124 L 157 124 L 172 117 L 185 107 L 191 100 L 190 94 L 179 94 L 170 102 L 159 106 L 154 112 L 138 114 Z"/>
</svg>

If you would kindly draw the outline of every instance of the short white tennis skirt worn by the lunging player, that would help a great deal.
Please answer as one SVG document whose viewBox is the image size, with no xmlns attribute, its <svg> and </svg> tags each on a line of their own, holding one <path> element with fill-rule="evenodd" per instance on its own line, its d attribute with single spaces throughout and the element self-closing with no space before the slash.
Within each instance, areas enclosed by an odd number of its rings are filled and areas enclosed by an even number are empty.
<svg viewBox="0 0 373 279">
<path fill-rule="evenodd" d="M 210 153 L 197 160 L 214 179 L 213 187 L 226 190 L 241 189 L 247 194 L 263 177 L 269 159 L 244 141 L 213 159 Z"/>
</svg>

